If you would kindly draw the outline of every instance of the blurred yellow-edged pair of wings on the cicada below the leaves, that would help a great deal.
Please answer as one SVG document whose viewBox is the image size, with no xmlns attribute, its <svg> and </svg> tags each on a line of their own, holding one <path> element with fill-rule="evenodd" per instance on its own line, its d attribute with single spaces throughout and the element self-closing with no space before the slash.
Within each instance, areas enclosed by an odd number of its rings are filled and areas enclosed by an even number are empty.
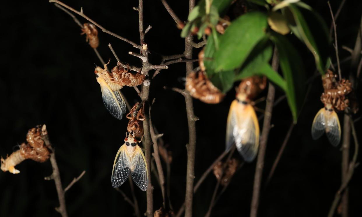
<svg viewBox="0 0 362 217">
<path fill-rule="evenodd" d="M 232 102 L 227 124 L 226 145 L 230 148 L 235 142 L 236 148 L 244 160 L 255 159 L 259 148 L 259 123 L 254 108 L 247 104 Z"/>
</svg>

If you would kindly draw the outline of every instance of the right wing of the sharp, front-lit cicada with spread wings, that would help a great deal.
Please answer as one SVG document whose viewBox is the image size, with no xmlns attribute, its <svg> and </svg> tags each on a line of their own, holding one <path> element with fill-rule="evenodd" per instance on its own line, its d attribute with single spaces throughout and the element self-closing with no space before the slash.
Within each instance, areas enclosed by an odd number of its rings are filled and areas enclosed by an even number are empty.
<svg viewBox="0 0 362 217">
<path fill-rule="evenodd" d="M 146 158 L 142 149 L 137 145 L 134 156 L 131 160 L 131 175 L 133 181 L 142 190 L 146 191 L 148 186 L 148 170 Z"/>
</svg>

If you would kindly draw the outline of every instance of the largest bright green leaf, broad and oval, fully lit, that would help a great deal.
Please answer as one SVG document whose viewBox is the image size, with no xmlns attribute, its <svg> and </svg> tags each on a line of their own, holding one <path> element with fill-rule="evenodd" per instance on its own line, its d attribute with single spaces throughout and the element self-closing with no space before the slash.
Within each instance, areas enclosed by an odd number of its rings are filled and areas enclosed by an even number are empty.
<svg viewBox="0 0 362 217">
<path fill-rule="evenodd" d="M 243 64 L 253 47 L 265 36 L 266 19 L 264 13 L 249 12 L 232 22 L 220 36 L 219 50 L 212 56 L 216 72 L 232 70 Z"/>
</svg>

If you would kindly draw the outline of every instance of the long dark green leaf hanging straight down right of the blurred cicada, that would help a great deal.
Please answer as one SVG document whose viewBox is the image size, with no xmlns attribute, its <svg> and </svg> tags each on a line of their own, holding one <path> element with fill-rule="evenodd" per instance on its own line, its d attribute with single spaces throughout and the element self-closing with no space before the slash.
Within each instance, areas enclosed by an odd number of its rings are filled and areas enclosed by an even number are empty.
<svg viewBox="0 0 362 217">
<path fill-rule="evenodd" d="M 306 76 L 302 58 L 286 37 L 273 34 L 271 39 L 278 48 L 279 64 L 286 81 L 288 104 L 293 115 L 294 123 L 296 123 L 306 94 Z"/>
</svg>

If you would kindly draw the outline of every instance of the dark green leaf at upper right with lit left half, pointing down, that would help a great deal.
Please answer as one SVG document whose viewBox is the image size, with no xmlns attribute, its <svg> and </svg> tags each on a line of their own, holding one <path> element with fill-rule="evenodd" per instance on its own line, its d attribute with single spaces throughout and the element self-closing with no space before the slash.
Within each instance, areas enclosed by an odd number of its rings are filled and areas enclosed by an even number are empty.
<svg viewBox="0 0 362 217">
<path fill-rule="evenodd" d="M 297 5 L 303 6 L 303 4 L 290 4 L 288 9 L 285 10 L 286 13 L 290 10 L 294 18 L 294 20 L 290 21 L 290 28 L 312 52 L 318 71 L 321 75 L 324 75 L 328 64 L 329 50 L 327 26 L 323 19 L 311 8 L 297 7 Z"/>
</svg>

